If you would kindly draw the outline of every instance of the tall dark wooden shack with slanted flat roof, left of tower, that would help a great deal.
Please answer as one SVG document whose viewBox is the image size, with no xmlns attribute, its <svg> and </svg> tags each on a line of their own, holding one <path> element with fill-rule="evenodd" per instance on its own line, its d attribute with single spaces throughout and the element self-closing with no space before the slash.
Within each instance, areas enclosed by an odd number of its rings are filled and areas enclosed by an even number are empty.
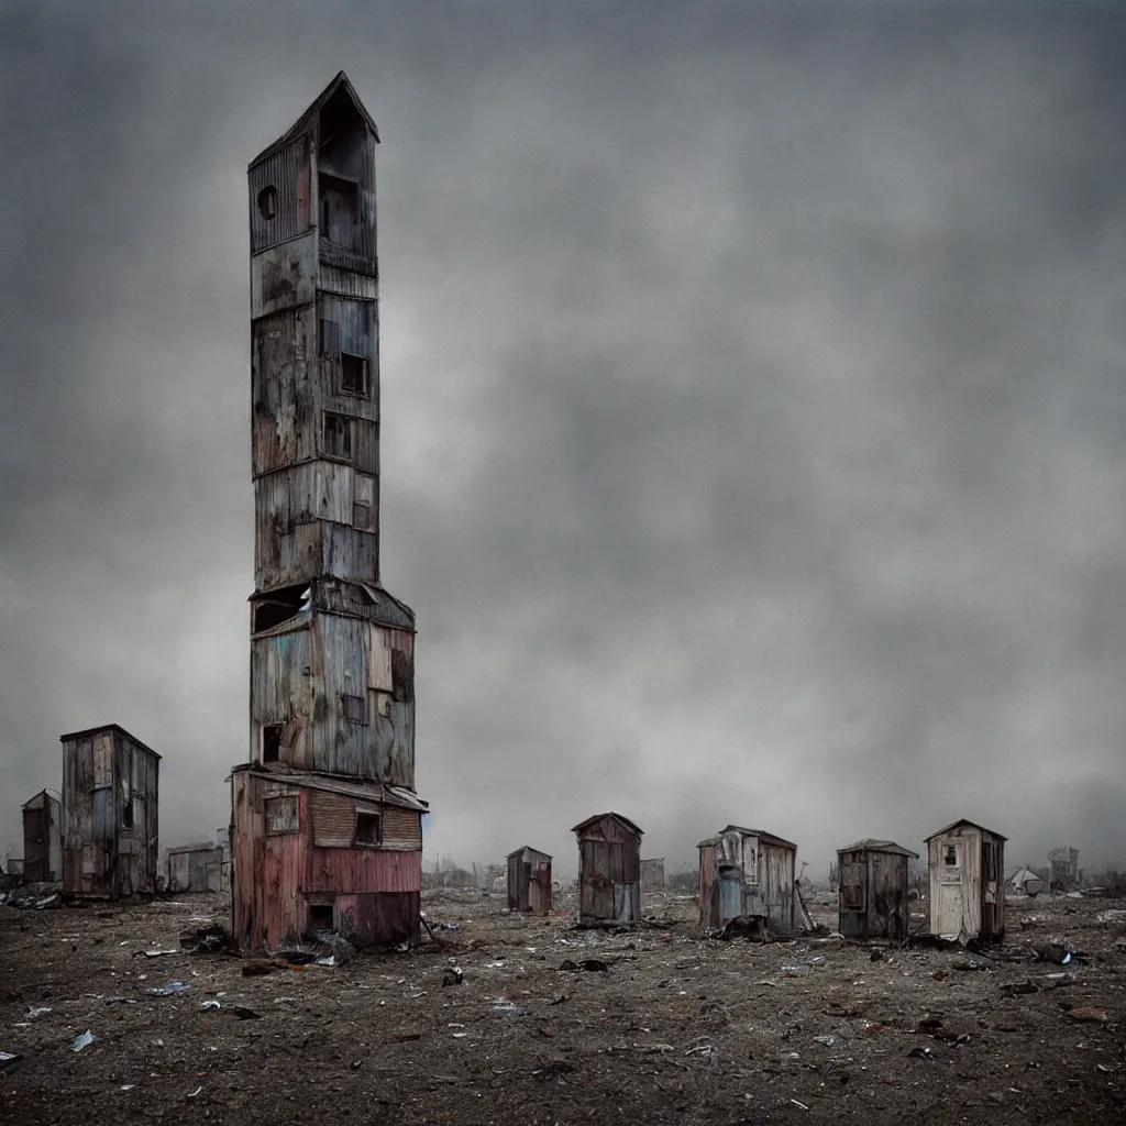
<svg viewBox="0 0 1126 1126">
<path fill-rule="evenodd" d="M 62 736 L 63 893 L 157 891 L 160 756 L 116 723 Z"/>
</svg>

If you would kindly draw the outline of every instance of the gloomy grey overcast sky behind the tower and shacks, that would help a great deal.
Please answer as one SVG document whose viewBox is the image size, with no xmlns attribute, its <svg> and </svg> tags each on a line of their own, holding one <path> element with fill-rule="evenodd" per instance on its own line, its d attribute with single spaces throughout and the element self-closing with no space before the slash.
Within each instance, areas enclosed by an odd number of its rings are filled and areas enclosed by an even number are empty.
<svg viewBox="0 0 1126 1126">
<path fill-rule="evenodd" d="M 248 757 L 247 162 L 379 125 L 435 854 L 617 808 L 1126 866 L 1120 3 L 0 3 L 0 846 Z"/>
</svg>

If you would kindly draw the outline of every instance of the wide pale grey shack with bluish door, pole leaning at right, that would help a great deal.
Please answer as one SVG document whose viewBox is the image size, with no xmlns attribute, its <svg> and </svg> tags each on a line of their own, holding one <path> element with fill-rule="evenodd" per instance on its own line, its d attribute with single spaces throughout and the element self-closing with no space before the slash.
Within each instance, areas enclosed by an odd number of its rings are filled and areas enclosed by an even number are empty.
<svg viewBox="0 0 1126 1126">
<path fill-rule="evenodd" d="M 771 938 L 796 933 L 796 844 L 761 829 L 727 825 L 698 848 L 701 930 L 748 917 L 762 920 Z"/>
</svg>

